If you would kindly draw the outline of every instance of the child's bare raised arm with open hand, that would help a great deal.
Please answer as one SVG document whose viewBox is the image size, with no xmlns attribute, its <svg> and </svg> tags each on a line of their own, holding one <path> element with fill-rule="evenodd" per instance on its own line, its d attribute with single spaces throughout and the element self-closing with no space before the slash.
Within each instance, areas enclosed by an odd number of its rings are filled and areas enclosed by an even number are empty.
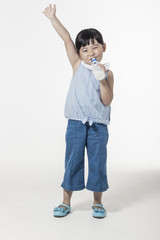
<svg viewBox="0 0 160 240">
<path fill-rule="evenodd" d="M 44 13 L 44 15 L 46 17 L 49 18 L 54 29 L 56 30 L 56 32 L 59 34 L 59 36 L 64 41 L 68 59 L 72 65 L 72 68 L 74 69 L 77 62 L 80 61 L 80 57 L 79 57 L 78 53 L 76 52 L 74 43 L 71 39 L 69 32 L 56 17 L 56 5 L 53 4 L 53 8 L 52 8 L 51 4 L 49 4 L 49 7 L 45 8 L 45 10 L 42 12 Z"/>
</svg>

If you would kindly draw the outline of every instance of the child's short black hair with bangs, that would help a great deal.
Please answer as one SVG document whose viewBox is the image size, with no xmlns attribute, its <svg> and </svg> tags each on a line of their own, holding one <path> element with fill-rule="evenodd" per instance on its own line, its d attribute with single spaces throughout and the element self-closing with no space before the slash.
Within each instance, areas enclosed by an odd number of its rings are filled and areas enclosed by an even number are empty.
<svg viewBox="0 0 160 240">
<path fill-rule="evenodd" d="M 79 53 L 80 48 L 89 45 L 90 40 L 94 43 L 94 39 L 96 39 L 98 43 L 104 44 L 102 34 L 98 30 L 94 28 L 83 29 L 77 34 L 75 40 L 76 51 Z"/>
</svg>

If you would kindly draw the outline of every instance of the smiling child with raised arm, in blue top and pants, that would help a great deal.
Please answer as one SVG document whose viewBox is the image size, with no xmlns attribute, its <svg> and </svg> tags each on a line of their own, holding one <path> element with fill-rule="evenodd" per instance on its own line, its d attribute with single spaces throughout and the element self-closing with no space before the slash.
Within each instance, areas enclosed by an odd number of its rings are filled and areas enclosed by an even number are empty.
<svg viewBox="0 0 160 240">
<path fill-rule="evenodd" d="M 113 73 L 105 72 L 103 80 L 96 80 L 92 72 L 92 58 L 98 62 L 103 57 L 106 44 L 96 29 L 84 29 L 76 37 L 75 45 L 69 32 L 56 17 L 56 5 L 51 4 L 43 11 L 65 44 L 73 77 L 65 103 L 68 125 L 65 135 L 65 173 L 61 184 L 63 202 L 54 208 L 54 216 L 66 216 L 71 211 L 73 191 L 82 190 L 84 185 L 84 153 L 87 148 L 89 174 L 86 189 L 93 191 L 92 216 L 102 218 L 106 210 L 102 205 L 102 193 L 107 182 L 107 142 L 110 121 L 110 104 L 113 99 Z"/>
</svg>

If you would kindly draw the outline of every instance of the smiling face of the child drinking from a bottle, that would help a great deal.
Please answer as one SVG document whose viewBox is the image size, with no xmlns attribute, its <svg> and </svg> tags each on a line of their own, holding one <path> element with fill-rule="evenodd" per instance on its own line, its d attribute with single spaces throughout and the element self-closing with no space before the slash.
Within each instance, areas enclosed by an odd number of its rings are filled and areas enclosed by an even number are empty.
<svg viewBox="0 0 160 240">
<path fill-rule="evenodd" d="M 92 64 L 92 58 L 96 58 L 98 62 L 101 61 L 103 57 L 103 52 L 106 50 L 106 44 L 103 45 L 94 39 L 94 43 L 90 40 L 89 45 L 82 46 L 79 50 L 80 58 L 87 64 Z"/>
</svg>

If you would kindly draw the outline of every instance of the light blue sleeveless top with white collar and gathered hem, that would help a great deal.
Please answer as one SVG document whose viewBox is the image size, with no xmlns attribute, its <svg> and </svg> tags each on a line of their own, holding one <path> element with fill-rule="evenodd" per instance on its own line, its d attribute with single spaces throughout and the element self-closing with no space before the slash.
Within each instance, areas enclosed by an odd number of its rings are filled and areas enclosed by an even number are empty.
<svg viewBox="0 0 160 240">
<path fill-rule="evenodd" d="M 108 73 L 107 67 L 106 70 Z M 64 116 L 83 124 L 89 122 L 90 126 L 92 123 L 108 125 L 110 113 L 111 106 L 105 106 L 100 99 L 100 81 L 95 79 L 92 66 L 82 60 L 70 82 Z"/>
</svg>

